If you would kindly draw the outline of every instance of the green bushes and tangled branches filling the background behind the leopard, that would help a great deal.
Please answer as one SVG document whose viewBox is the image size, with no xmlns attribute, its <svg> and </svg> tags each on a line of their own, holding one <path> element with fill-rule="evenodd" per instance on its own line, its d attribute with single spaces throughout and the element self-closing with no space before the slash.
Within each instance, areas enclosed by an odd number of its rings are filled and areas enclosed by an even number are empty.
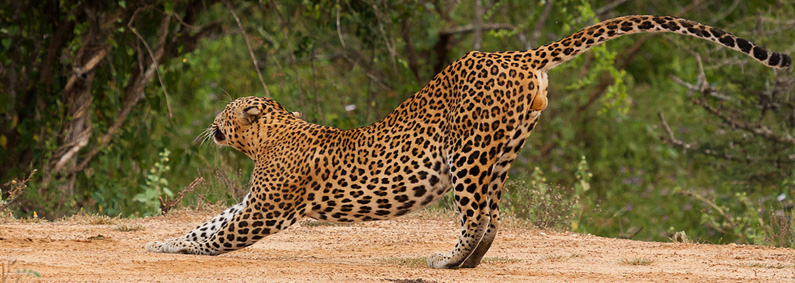
<svg viewBox="0 0 795 283">
<path fill-rule="evenodd" d="M 476 47 L 532 48 L 616 16 L 680 15 L 795 50 L 789 1 L 478 1 L 0 4 L 0 199 L 16 217 L 135 217 L 203 177 L 183 204 L 231 204 L 252 162 L 197 136 L 232 98 L 269 95 L 308 121 L 360 127 Z M 791 74 L 703 40 L 634 35 L 549 78 L 505 214 L 608 237 L 795 247 Z"/>
</svg>

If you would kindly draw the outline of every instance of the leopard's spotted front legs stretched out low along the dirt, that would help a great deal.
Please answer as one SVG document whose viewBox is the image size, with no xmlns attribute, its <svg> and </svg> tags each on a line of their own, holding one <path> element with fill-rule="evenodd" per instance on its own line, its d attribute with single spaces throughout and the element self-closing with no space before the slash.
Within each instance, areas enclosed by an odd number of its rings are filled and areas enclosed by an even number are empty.
<svg viewBox="0 0 795 283">
<path fill-rule="evenodd" d="M 295 202 L 283 204 L 258 203 L 273 199 L 249 194 L 239 204 L 224 210 L 210 221 L 182 237 L 154 241 L 146 245 L 147 252 L 218 255 L 250 246 L 267 235 L 283 230 L 303 214 Z"/>
</svg>

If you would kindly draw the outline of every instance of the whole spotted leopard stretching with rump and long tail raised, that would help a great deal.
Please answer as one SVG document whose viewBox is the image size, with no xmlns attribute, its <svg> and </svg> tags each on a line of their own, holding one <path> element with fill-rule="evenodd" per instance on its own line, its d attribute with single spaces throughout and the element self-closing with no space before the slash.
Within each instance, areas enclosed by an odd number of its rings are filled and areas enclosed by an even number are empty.
<svg viewBox="0 0 795 283">
<path fill-rule="evenodd" d="M 149 252 L 217 255 L 249 246 L 302 217 L 331 222 L 390 219 L 453 189 L 461 232 L 432 268 L 472 268 L 500 222 L 503 183 L 541 111 L 547 71 L 625 34 L 700 37 L 787 68 L 784 54 L 697 22 L 626 16 L 593 25 L 535 50 L 470 52 L 383 120 L 352 130 L 301 120 L 273 100 L 239 98 L 209 134 L 255 161 L 251 191 L 188 234 L 146 245 Z"/>
</svg>

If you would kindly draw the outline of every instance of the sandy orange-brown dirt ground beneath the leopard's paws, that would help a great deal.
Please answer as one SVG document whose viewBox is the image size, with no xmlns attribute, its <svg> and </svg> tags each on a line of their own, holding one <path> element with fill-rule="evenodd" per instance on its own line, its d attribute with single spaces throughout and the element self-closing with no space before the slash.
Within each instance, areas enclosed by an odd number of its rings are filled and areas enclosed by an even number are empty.
<svg viewBox="0 0 795 283">
<path fill-rule="evenodd" d="M 381 222 L 302 222 L 221 256 L 152 254 L 151 240 L 179 236 L 213 213 L 81 224 L 0 225 L 0 254 L 20 282 L 595 282 L 795 281 L 795 250 L 744 245 L 655 243 L 508 228 L 475 269 L 425 267 L 452 248 L 450 217 L 429 213 Z M 122 232 L 118 227 L 135 231 Z M 14 261 L 14 262 L 11 262 Z M 8 270 L 8 269 L 7 269 Z"/>
</svg>

